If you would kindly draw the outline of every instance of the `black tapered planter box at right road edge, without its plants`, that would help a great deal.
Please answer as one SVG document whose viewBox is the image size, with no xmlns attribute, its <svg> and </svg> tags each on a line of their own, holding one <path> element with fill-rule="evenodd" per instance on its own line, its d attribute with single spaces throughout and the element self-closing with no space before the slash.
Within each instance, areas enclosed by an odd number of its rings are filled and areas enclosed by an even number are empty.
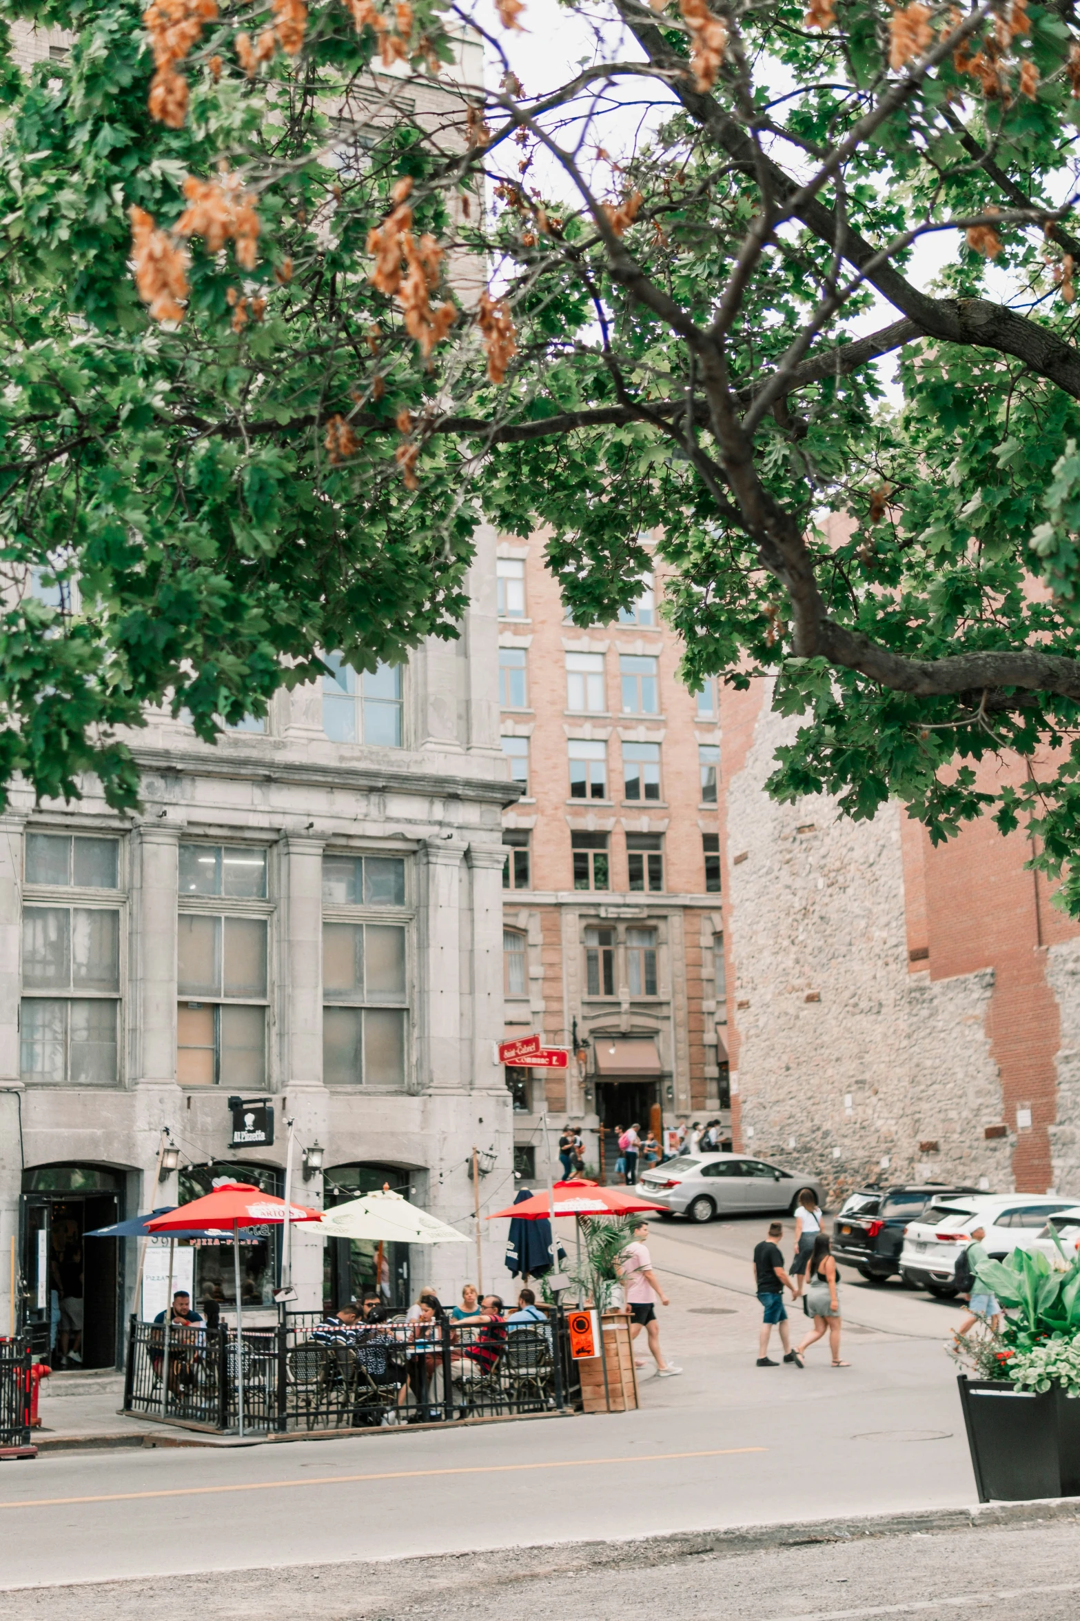
<svg viewBox="0 0 1080 1621">
<path fill-rule="evenodd" d="M 960 1375 L 980 1503 L 1080 1496 L 1080 1399 Z"/>
</svg>

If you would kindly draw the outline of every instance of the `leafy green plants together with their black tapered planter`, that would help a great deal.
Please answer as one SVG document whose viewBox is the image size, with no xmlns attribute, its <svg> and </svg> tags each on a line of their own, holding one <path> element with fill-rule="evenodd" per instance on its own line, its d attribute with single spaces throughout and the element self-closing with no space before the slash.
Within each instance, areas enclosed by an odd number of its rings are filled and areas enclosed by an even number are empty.
<svg viewBox="0 0 1080 1621">
<path fill-rule="evenodd" d="M 1080 1495 L 1080 1256 L 1062 1263 L 1014 1250 L 976 1269 L 1009 1313 L 955 1349 L 981 1503 Z"/>
</svg>

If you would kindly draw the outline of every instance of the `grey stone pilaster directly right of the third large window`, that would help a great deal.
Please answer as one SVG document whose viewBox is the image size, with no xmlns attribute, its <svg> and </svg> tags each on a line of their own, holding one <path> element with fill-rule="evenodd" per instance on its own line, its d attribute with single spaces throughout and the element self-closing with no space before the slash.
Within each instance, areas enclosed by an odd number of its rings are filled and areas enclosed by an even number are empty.
<svg viewBox="0 0 1080 1621">
<path fill-rule="evenodd" d="M 466 1084 L 461 1039 L 461 856 L 458 838 L 429 838 L 416 853 L 421 883 L 415 992 L 418 1091 Z"/>
</svg>

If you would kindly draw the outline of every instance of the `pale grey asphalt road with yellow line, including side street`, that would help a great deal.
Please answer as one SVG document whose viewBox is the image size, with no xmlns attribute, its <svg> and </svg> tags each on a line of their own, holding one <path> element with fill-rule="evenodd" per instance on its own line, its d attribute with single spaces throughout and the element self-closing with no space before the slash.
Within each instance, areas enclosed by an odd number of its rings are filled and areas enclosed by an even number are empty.
<svg viewBox="0 0 1080 1621">
<path fill-rule="evenodd" d="M 683 1375 L 643 1375 L 636 1414 L 5 1464 L 0 1589 L 432 1555 L 460 1569 L 461 1558 L 528 1543 L 972 1504 L 955 1370 L 942 1352 L 957 1308 L 845 1281 L 852 1367 L 831 1368 L 819 1345 L 801 1371 L 759 1370 L 748 1256 L 761 1229 L 745 1219 L 654 1230 L 672 1298 L 664 1344 Z M 636 1580 L 644 1603 L 654 1576 L 638 1569 Z M 954 1571 L 952 1592 L 962 1587 Z M 232 1595 L 232 1577 L 220 1592 Z M 832 1613 L 832 1597 L 772 1613 Z M 740 1603 L 750 1598 L 746 1589 Z M 1077 1600 L 1080 1590 L 1074 1613 Z M 0 1616 L 36 1613 L 18 1608 L 26 1593 L 8 1603 L 16 1608 Z"/>
</svg>

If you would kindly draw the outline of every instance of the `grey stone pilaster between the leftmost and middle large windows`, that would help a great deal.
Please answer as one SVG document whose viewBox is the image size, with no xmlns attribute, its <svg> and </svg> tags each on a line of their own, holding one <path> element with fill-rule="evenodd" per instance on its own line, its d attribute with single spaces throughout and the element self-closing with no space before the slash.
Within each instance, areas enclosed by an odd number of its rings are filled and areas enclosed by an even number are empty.
<svg viewBox="0 0 1080 1621">
<path fill-rule="evenodd" d="M 176 1078 L 176 849 L 180 828 L 144 822 L 131 892 L 133 1078 Z"/>
</svg>

